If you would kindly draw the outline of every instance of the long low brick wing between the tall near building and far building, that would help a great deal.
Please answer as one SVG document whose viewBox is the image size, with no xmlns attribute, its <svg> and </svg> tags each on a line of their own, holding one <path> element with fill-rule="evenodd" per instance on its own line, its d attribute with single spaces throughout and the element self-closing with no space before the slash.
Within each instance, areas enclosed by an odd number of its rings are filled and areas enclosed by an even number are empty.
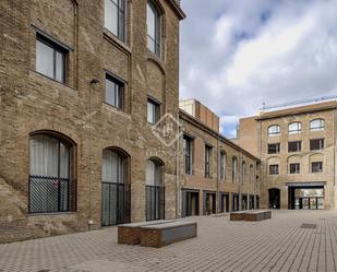
<svg viewBox="0 0 337 272">
<path fill-rule="evenodd" d="M 219 133 L 219 118 L 195 99 L 180 102 L 181 215 L 258 208 L 260 159 Z"/>
</svg>

